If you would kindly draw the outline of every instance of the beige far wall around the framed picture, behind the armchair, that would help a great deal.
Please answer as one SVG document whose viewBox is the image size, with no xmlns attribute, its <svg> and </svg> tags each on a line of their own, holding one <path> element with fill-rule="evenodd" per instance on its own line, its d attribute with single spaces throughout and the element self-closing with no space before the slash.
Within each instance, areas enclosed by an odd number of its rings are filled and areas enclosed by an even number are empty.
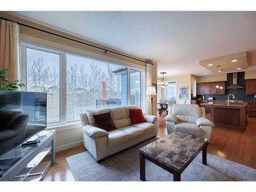
<svg viewBox="0 0 256 192">
<path fill-rule="evenodd" d="M 186 104 L 190 104 L 190 101 L 191 101 L 191 75 L 168 77 L 168 78 L 164 78 L 164 81 L 166 81 L 166 82 L 176 81 L 177 82 L 177 94 L 176 94 L 177 104 L 184 104 L 185 100 L 186 100 Z M 180 99 L 179 98 L 180 87 L 186 87 L 186 86 L 188 87 L 188 99 Z M 164 89 L 162 89 L 162 97 L 165 97 Z"/>
</svg>

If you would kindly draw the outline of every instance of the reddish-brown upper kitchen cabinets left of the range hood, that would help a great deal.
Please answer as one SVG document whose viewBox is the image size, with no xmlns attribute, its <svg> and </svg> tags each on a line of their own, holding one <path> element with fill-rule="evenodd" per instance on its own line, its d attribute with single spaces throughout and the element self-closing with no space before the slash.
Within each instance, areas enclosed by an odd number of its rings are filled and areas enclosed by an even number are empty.
<svg viewBox="0 0 256 192">
<path fill-rule="evenodd" d="M 216 86 L 219 88 L 216 88 Z M 223 89 L 220 89 L 222 87 Z M 225 81 L 197 83 L 198 95 L 225 95 Z"/>
</svg>

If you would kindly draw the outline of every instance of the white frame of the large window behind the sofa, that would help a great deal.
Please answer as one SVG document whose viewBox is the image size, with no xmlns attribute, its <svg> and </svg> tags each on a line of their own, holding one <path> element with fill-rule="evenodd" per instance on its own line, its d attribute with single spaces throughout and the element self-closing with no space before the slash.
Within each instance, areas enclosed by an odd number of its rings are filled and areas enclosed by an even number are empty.
<svg viewBox="0 0 256 192">
<path fill-rule="evenodd" d="M 127 103 L 126 105 L 130 105 L 131 103 L 131 70 L 139 71 L 140 72 L 140 108 L 143 110 L 144 108 L 144 100 L 145 100 L 145 70 L 142 69 L 137 69 L 134 67 L 128 67 L 124 66 L 121 63 L 114 62 L 114 61 L 109 61 L 107 59 L 102 59 L 102 58 L 96 58 L 92 57 L 86 54 L 80 54 L 80 53 L 75 53 L 71 51 L 66 51 L 66 50 L 61 50 L 58 48 L 50 47 L 50 46 L 45 46 L 41 44 L 36 44 L 34 42 L 28 42 L 28 41 L 20 41 L 20 62 L 21 62 L 21 70 L 20 70 L 20 77 L 22 79 L 22 82 L 25 83 L 26 88 L 23 89 L 24 91 L 27 91 L 27 48 L 30 49 L 35 49 L 39 51 L 45 51 L 49 53 L 54 53 L 54 54 L 59 54 L 59 122 L 52 122 L 52 123 L 47 123 L 47 127 L 59 127 L 59 126 L 65 126 L 65 125 L 72 125 L 72 127 L 76 127 L 75 124 L 80 124 L 80 120 L 76 121 L 70 121 L 67 122 L 67 55 L 72 55 L 72 56 L 77 56 L 77 57 L 82 57 L 86 59 L 93 59 L 105 63 L 110 63 L 112 65 L 118 65 L 118 66 L 123 66 L 127 68 Z M 74 129 L 74 128 L 73 128 Z"/>
</svg>

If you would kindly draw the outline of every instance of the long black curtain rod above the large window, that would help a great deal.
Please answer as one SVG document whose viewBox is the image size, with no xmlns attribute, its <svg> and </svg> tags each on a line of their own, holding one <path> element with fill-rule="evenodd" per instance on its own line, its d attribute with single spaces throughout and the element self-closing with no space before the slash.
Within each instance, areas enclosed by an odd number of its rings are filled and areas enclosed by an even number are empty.
<svg viewBox="0 0 256 192">
<path fill-rule="evenodd" d="M 131 58 L 131 59 L 134 59 L 134 60 L 138 60 L 138 61 L 141 61 L 141 62 L 145 62 L 145 63 L 150 63 L 151 65 L 154 65 L 153 63 L 151 62 L 146 62 L 146 61 L 143 61 L 143 60 L 140 60 L 140 59 L 136 59 L 134 57 L 130 57 L 130 56 L 127 56 L 127 55 L 123 55 L 121 53 L 117 53 L 117 52 L 114 52 L 114 51 L 110 51 L 108 49 L 103 49 L 101 47 L 98 47 L 98 46 L 94 46 L 94 45 L 91 45 L 91 44 L 87 44 L 86 42 L 82 42 L 82 41 L 79 41 L 79 40 L 75 40 L 75 39 L 72 39 L 72 38 L 69 38 L 69 37 L 65 37 L 65 36 L 62 36 L 62 35 L 59 35 L 59 34 L 56 34 L 56 33 L 52 33 L 52 32 L 49 32 L 49 31 L 45 31 L 45 30 L 42 30 L 42 29 L 39 29 L 39 28 L 36 28 L 36 27 L 32 27 L 32 26 L 29 26 L 29 25 L 26 25 L 26 24 L 22 24 L 22 23 L 19 23 L 19 22 L 15 22 L 14 20 L 10 20 L 8 18 L 4 18 L 4 17 L 0 17 L 0 19 L 4 19 L 4 20 L 8 20 L 9 22 L 14 22 L 18 25 L 22 25 L 24 27 L 28 27 L 28 28 L 31 28 L 31 29 L 35 29 L 35 30 L 38 30 L 38 31 L 41 31 L 41 32 L 45 32 L 45 33 L 49 33 L 51 35 L 55 35 L 55 36 L 58 36 L 58 37 L 61 37 L 61 38 L 65 38 L 65 39 L 69 39 L 69 40 L 72 40 L 72 41 L 75 41 L 75 42 L 79 42 L 80 44 L 84 44 L 84 45 L 87 45 L 87 46 L 90 46 L 90 47 L 93 47 L 93 48 L 97 48 L 97 49 L 100 49 L 100 50 L 103 50 L 104 53 L 106 54 L 106 52 L 110 52 L 110 53 L 114 53 L 114 54 L 117 54 L 117 55 L 121 55 L 123 57 L 128 57 L 128 58 Z"/>
</svg>

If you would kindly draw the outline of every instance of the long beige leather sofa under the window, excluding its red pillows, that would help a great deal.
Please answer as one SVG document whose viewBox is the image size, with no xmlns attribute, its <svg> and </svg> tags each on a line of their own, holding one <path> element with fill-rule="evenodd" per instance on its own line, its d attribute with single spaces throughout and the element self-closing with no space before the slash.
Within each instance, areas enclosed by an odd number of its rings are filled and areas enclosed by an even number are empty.
<svg viewBox="0 0 256 192">
<path fill-rule="evenodd" d="M 137 109 L 138 107 L 117 106 L 113 108 L 101 108 L 80 114 L 84 146 L 97 162 L 157 135 L 158 118 L 156 116 L 144 115 L 147 122 L 131 125 L 129 108 Z M 106 132 L 95 127 L 93 115 L 109 111 L 111 112 L 112 119 L 117 129 Z"/>
</svg>

